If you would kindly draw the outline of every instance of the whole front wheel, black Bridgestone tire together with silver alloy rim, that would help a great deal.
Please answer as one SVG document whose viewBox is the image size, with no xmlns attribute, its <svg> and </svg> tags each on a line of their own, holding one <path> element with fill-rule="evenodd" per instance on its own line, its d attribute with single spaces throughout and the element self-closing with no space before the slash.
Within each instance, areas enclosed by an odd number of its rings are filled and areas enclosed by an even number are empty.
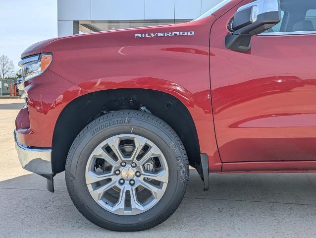
<svg viewBox="0 0 316 238">
<path fill-rule="evenodd" d="M 108 113 L 73 142 L 65 178 L 77 209 L 113 231 L 141 231 L 165 221 L 179 206 L 188 159 L 175 131 L 139 111 Z"/>
</svg>

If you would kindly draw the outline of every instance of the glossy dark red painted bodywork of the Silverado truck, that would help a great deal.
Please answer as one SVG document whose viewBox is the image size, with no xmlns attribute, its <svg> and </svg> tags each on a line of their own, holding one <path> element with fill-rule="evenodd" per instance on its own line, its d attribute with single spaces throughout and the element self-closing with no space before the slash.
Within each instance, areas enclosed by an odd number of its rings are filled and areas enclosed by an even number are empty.
<svg viewBox="0 0 316 238">
<path fill-rule="evenodd" d="M 16 119 L 19 141 L 51 147 L 56 120 L 72 100 L 100 90 L 143 88 L 171 94 L 187 107 L 210 172 L 316 170 L 316 36 L 255 36 L 249 53 L 226 49 L 227 24 L 250 1 L 232 0 L 189 23 L 29 47 L 22 58 L 52 52 L 53 61 L 27 83 L 29 112 L 21 110 Z M 135 38 L 181 31 L 195 35 Z"/>
</svg>

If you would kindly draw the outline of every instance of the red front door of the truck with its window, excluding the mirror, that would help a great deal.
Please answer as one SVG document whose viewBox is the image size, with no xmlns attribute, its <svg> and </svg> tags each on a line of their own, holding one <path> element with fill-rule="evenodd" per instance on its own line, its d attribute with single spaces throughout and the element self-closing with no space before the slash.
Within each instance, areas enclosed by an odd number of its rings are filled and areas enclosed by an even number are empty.
<svg viewBox="0 0 316 238">
<path fill-rule="evenodd" d="M 223 163 L 316 161 L 316 1 L 280 0 L 247 53 L 225 48 L 244 0 L 211 27 L 211 95 Z"/>
</svg>

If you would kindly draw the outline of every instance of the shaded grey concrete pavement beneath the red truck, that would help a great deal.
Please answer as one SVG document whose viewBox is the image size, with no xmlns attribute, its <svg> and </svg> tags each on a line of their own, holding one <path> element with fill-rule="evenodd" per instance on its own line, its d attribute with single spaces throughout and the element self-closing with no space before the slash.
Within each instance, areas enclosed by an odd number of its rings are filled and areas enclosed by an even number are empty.
<svg viewBox="0 0 316 238">
<path fill-rule="evenodd" d="M 316 174 L 210 176 L 210 190 L 190 170 L 188 191 L 167 221 L 151 230 L 117 233 L 86 220 L 66 191 L 55 193 L 30 174 L 0 182 L 0 234 L 4 237 L 316 237 Z M 1 235 L 1 237 L 3 237 Z"/>
</svg>

